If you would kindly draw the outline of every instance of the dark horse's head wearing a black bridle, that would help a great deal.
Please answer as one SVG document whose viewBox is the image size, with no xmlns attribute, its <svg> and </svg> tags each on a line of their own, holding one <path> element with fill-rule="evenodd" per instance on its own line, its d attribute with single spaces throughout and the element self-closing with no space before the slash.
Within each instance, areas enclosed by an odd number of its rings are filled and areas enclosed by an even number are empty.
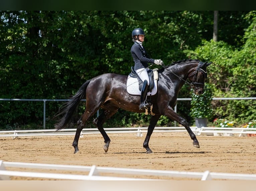
<svg viewBox="0 0 256 191">
<path fill-rule="evenodd" d="M 207 66 L 212 62 L 199 62 L 196 70 L 191 71 L 188 79 L 191 81 L 190 86 L 196 95 L 204 94 L 205 79 L 207 78 Z"/>
</svg>

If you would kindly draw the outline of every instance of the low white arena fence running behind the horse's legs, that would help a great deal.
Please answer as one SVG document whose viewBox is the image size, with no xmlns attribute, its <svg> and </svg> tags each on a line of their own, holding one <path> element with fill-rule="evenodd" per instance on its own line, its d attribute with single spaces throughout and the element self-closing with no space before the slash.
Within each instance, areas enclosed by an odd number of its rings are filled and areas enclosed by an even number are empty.
<svg viewBox="0 0 256 191">
<path fill-rule="evenodd" d="M 136 136 L 143 136 L 147 133 L 148 127 L 123 127 L 123 128 L 105 128 L 109 133 L 134 133 Z M 255 134 L 254 128 L 238 128 L 238 127 L 190 127 L 196 135 L 217 135 L 217 136 L 247 136 L 247 134 Z M 185 127 L 155 127 L 153 132 L 187 132 Z M 13 137 L 13 139 L 22 136 L 56 136 L 56 135 L 75 135 L 76 129 L 61 129 L 56 132 L 55 129 L 38 129 L 38 130 L 8 130 L 0 131 L 0 137 Z M 85 134 L 100 134 L 97 128 L 84 128 L 80 136 Z"/>
</svg>

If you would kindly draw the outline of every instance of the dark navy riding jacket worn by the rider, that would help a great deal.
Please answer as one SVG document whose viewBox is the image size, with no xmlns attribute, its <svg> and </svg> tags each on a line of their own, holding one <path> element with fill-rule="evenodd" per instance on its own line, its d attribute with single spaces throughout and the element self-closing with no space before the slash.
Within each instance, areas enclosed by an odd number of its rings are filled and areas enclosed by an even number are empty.
<svg viewBox="0 0 256 191">
<path fill-rule="evenodd" d="M 147 68 L 148 63 L 155 62 L 154 59 L 149 58 L 145 48 L 143 47 L 143 49 L 142 49 L 142 47 L 136 41 L 132 45 L 131 54 L 132 54 L 133 61 L 135 63 L 134 70 L 138 70 L 141 68 Z"/>
</svg>

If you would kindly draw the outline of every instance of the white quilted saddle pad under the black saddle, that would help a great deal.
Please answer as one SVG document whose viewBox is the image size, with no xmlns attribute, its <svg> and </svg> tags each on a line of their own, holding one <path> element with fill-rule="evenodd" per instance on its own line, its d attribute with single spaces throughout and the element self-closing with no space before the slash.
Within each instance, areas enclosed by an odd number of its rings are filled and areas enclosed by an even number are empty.
<svg viewBox="0 0 256 191">
<path fill-rule="evenodd" d="M 153 69 L 154 73 L 154 87 L 152 92 L 148 92 L 147 95 L 155 95 L 157 93 L 157 81 L 158 81 L 158 69 Z M 127 77 L 126 83 L 127 92 L 130 95 L 140 95 L 139 82 L 137 78 Z"/>
</svg>

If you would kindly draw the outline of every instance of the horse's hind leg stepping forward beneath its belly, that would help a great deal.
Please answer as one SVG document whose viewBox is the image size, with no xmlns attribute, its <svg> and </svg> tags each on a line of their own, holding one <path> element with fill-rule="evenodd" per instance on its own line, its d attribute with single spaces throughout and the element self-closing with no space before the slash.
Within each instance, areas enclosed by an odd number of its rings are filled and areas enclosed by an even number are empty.
<svg viewBox="0 0 256 191">
<path fill-rule="evenodd" d="M 103 145 L 103 149 L 105 152 L 108 152 L 110 138 L 107 135 L 106 131 L 103 129 L 103 124 L 107 119 L 109 119 L 112 115 L 114 115 L 117 112 L 117 110 L 118 110 L 118 107 L 116 107 L 116 108 L 112 107 L 111 110 L 104 109 L 102 111 L 102 113 L 99 115 L 99 117 L 97 117 L 96 119 L 93 120 L 93 123 L 99 129 L 99 131 L 101 132 L 101 134 L 104 138 L 105 145 Z"/>
</svg>

